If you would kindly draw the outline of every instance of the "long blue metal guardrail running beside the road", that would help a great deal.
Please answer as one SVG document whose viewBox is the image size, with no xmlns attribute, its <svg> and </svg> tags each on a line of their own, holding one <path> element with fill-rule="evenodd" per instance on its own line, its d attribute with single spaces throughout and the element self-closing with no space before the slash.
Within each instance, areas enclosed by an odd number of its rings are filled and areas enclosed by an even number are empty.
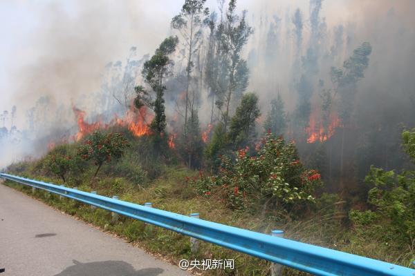
<svg viewBox="0 0 415 276">
<path fill-rule="evenodd" d="M 225 226 L 203 219 L 147 208 L 127 201 L 111 199 L 101 195 L 82 192 L 72 188 L 47 184 L 42 181 L 26 179 L 1 173 L 1 178 L 16 181 L 50 193 L 62 195 L 85 204 L 110 210 L 133 219 L 139 219 L 177 233 L 201 239 L 248 255 L 266 259 L 270 262 L 290 266 L 314 275 L 371 276 L 394 275 L 414 276 L 415 270 L 376 259 L 295 242 L 281 237 L 273 237 L 250 230 Z"/>
</svg>

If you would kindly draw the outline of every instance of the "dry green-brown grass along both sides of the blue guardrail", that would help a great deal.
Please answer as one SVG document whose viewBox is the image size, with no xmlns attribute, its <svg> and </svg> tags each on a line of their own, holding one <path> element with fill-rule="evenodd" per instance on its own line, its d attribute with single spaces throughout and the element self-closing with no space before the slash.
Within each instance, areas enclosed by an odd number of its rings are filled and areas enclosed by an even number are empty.
<svg viewBox="0 0 415 276">
<path fill-rule="evenodd" d="M 33 165 L 36 166 L 36 165 Z M 59 179 L 30 174 L 30 164 L 18 166 L 17 174 L 43 181 L 62 184 Z M 86 175 L 93 170 L 85 172 Z M 194 188 L 185 184 L 185 177 L 195 176 L 196 172 L 180 166 L 165 166 L 163 175 L 149 181 L 146 185 L 136 185 L 123 177 L 102 177 L 99 181 L 84 181 L 78 185 L 79 190 L 91 192 L 96 190 L 99 195 L 112 197 L 118 195 L 121 200 L 144 204 L 152 202 L 154 208 L 168 210 L 182 215 L 200 213 L 202 219 L 221 224 L 246 228 L 260 233 L 270 233 L 273 229 L 285 231 L 285 237 L 301 242 L 344 250 L 349 253 L 381 259 L 408 266 L 414 257 L 414 250 L 399 248 L 398 245 L 382 244 L 374 237 L 365 240 L 365 235 L 359 235 L 352 228 L 346 228 L 343 220 L 345 213 L 342 202 L 335 198 L 326 201 L 307 219 L 297 221 L 284 220 L 272 215 L 250 215 L 234 212 L 219 204 L 217 199 L 196 194 Z M 91 179 L 84 177 L 84 179 Z M 31 188 L 6 181 L 8 186 L 31 195 Z M 199 252 L 190 252 L 190 238 L 156 226 L 146 225 L 142 221 L 120 216 L 119 221 L 111 221 L 111 213 L 99 208 L 92 209 L 71 199 L 59 199 L 37 190 L 33 197 L 46 204 L 74 215 L 83 221 L 98 226 L 102 230 L 123 237 L 128 242 L 154 255 L 161 255 L 174 264 L 181 259 L 234 259 L 234 270 L 208 270 L 205 275 L 269 275 L 270 264 L 261 259 L 237 253 L 220 246 L 201 242 Z M 306 273 L 284 268 L 283 275 L 308 275 Z"/>
</svg>

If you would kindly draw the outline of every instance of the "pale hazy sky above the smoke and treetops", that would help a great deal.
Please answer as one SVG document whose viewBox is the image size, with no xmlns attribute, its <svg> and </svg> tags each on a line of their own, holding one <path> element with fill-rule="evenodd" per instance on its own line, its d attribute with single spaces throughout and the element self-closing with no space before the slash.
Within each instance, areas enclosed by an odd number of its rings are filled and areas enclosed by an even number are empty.
<svg viewBox="0 0 415 276">
<path fill-rule="evenodd" d="M 414 12 L 414 2 L 407 0 L 374 2 L 324 0 L 321 15 L 328 26 L 334 26 L 365 22 L 389 6 Z M 307 14 L 308 3 L 239 0 L 237 7 L 248 9 L 248 17 L 264 10 L 284 14 L 296 8 Z M 97 90 L 109 61 L 124 59 L 131 46 L 138 48 L 139 56 L 151 53 L 172 34 L 169 22 L 181 5 L 183 0 L 0 1 L 0 110 L 17 105 L 17 124 L 23 128 L 25 110 L 39 94 L 53 94 L 55 101 L 67 102 L 80 92 Z M 215 8 L 216 0 L 208 0 L 207 6 Z M 366 34 L 376 25 L 359 28 Z"/>
</svg>

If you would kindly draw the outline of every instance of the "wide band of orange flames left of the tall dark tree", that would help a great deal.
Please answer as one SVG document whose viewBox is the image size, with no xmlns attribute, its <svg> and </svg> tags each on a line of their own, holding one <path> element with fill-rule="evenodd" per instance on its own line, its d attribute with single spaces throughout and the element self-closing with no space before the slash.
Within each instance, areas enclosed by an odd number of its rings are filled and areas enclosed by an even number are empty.
<svg viewBox="0 0 415 276">
<path fill-rule="evenodd" d="M 133 112 L 129 110 L 124 118 L 120 119 L 115 117 L 108 124 L 102 123 L 102 121 L 96 121 L 93 123 L 88 123 L 85 121 L 86 112 L 80 110 L 79 108 L 73 107 L 73 112 L 77 119 L 77 125 L 79 131 L 74 136 L 75 141 L 79 141 L 85 135 L 94 132 L 100 128 L 107 129 L 110 126 L 124 126 L 127 127 L 134 136 L 140 137 L 142 135 L 150 135 L 151 130 L 147 124 L 147 121 L 151 121 L 153 115 L 149 115 L 147 112 L 147 107 L 143 106 L 138 110 L 138 112 Z"/>
</svg>

